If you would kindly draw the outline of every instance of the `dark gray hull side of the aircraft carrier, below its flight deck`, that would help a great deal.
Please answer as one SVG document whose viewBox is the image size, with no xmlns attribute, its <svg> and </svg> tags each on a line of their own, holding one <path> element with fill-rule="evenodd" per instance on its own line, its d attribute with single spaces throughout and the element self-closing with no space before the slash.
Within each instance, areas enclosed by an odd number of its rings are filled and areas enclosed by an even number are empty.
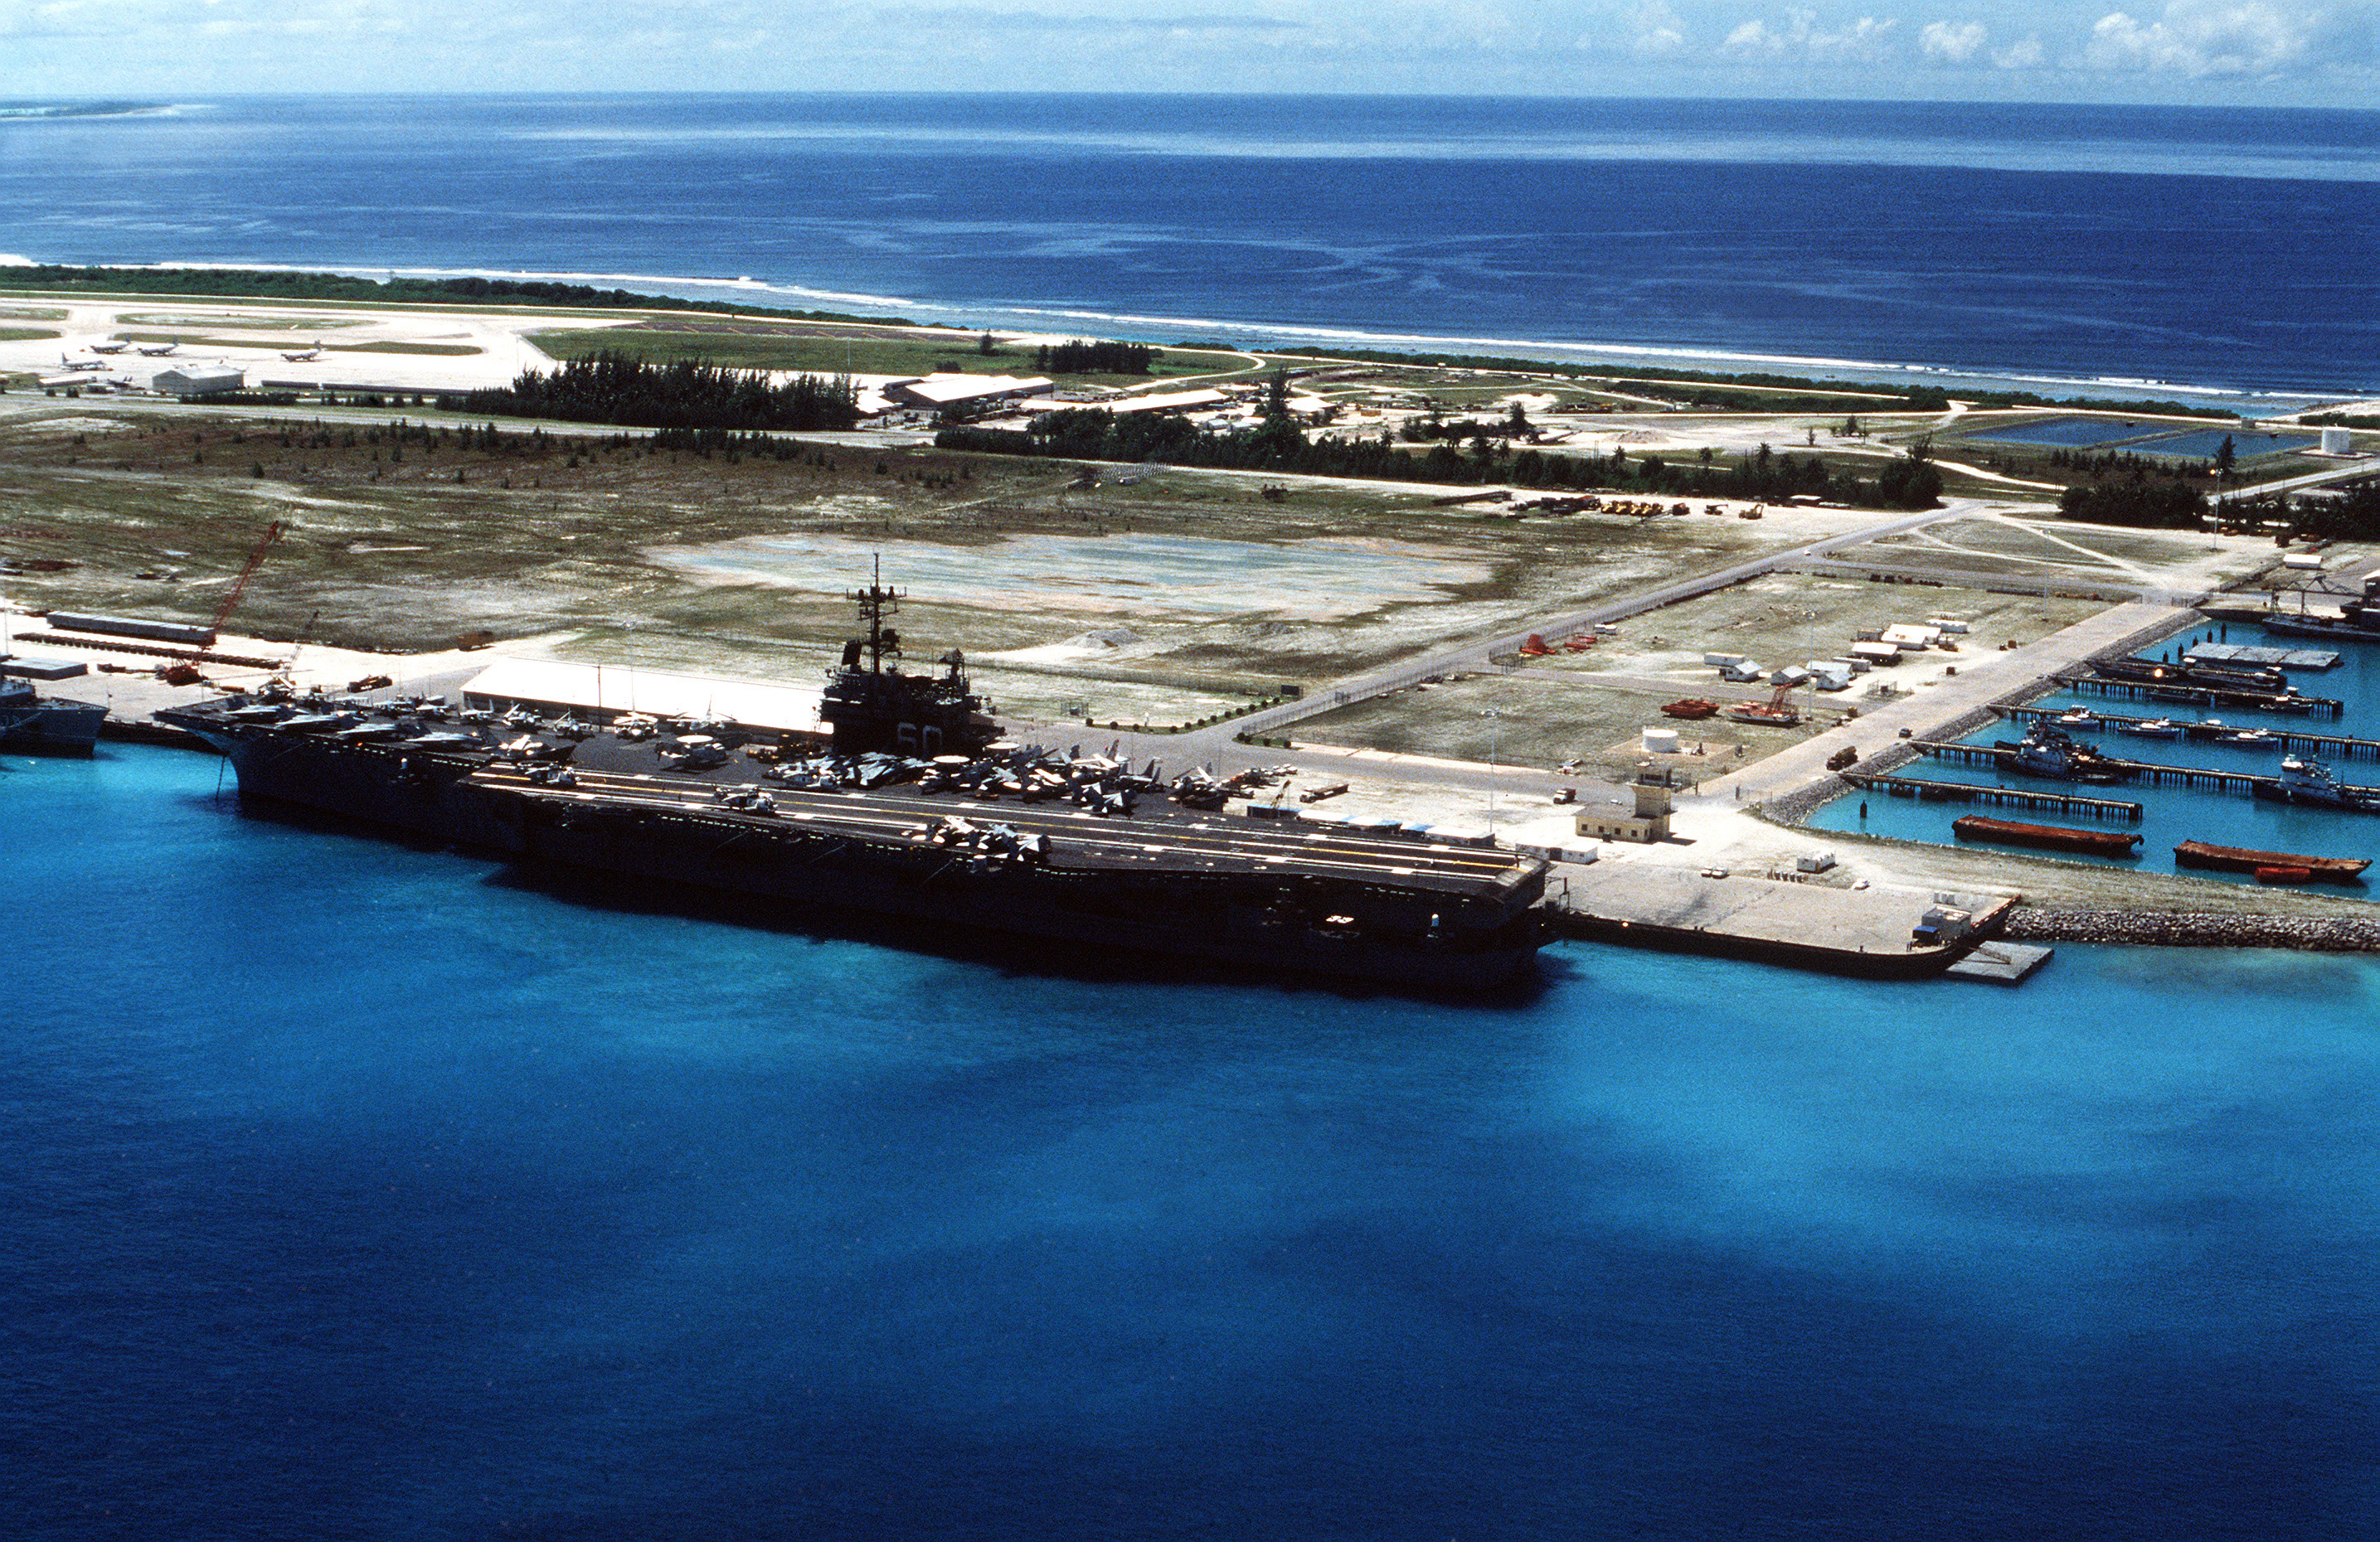
<svg viewBox="0 0 2380 1542">
<path fill-rule="evenodd" d="M 1480 990 L 1533 964 L 1542 864 L 1514 861 L 1478 892 L 1433 892 L 1326 871 L 1119 871 L 985 864 L 900 838 L 852 835 L 807 814 L 495 788 L 466 757 L 407 754 L 176 716 L 231 754 L 243 797 L 302 804 L 521 861 L 685 883 L 1090 949 L 1138 949 L 1435 990 Z M 826 795 L 831 816 L 921 819 L 921 800 Z M 1142 821 L 1128 821 L 1140 826 Z M 1150 835 L 1164 826 L 1152 823 Z M 1238 819 L 1233 823 L 1257 826 Z M 1119 826 L 1104 826 L 1119 828 Z M 1202 826 L 1204 828 L 1204 826 Z M 1395 869 L 1378 869 L 1395 871 Z"/>
</svg>

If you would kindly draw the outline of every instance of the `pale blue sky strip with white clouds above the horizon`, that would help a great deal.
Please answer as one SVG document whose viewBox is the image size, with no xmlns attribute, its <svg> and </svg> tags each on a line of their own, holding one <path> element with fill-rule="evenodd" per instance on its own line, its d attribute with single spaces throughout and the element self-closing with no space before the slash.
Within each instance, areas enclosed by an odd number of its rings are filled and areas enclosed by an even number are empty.
<svg viewBox="0 0 2380 1542">
<path fill-rule="evenodd" d="M 2380 0 L 0 0 L 0 98 L 1380 90 L 2380 105 Z"/>
</svg>

